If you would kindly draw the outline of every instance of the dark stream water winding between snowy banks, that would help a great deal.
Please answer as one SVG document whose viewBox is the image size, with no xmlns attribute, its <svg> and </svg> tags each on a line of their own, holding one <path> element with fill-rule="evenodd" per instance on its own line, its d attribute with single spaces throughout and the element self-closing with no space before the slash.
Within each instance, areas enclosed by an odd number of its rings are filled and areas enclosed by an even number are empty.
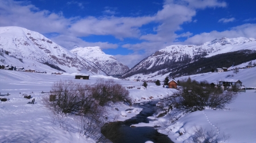
<svg viewBox="0 0 256 143">
<path fill-rule="evenodd" d="M 137 116 L 124 122 L 113 122 L 104 125 L 101 130 L 102 134 L 114 143 L 144 143 L 146 141 L 171 143 L 172 141 L 167 135 L 157 132 L 153 127 L 130 127 L 132 124 L 149 123 L 151 119 L 147 119 L 147 117 L 156 112 L 158 107 L 155 105 L 158 101 L 143 102 L 144 105 L 134 104 L 134 108 L 139 107 L 143 110 Z"/>
</svg>

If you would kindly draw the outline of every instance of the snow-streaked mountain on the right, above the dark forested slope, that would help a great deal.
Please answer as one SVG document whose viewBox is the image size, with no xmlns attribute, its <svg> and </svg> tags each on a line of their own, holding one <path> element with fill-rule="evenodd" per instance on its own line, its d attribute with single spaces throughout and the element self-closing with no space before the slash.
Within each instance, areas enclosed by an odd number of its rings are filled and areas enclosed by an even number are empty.
<svg viewBox="0 0 256 143">
<path fill-rule="evenodd" d="M 122 77 L 130 77 L 138 73 L 158 74 L 173 72 L 188 63 L 195 62 L 202 57 L 212 57 L 217 54 L 230 53 L 239 50 L 256 50 L 254 38 L 221 38 L 202 45 L 172 45 L 156 51 L 154 54 L 143 59 Z"/>
</svg>

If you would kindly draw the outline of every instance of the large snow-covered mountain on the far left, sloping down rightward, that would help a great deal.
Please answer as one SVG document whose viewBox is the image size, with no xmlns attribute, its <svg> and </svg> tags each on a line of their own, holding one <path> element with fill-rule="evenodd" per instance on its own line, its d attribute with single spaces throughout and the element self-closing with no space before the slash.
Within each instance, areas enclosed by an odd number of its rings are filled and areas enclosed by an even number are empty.
<svg viewBox="0 0 256 143">
<path fill-rule="evenodd" d="M 38 32 L 21 27 L 0 27 L 0 50 L 8 51 L 9 55 L 23 59 L 23 63 L 27 59 L 46 64 L 49 66 L 48 69 L 105 75 L 89 60 L 72 54 Z M 5 60 L 5 62 L 9 64 L 11 61 Z"/>
</svg>

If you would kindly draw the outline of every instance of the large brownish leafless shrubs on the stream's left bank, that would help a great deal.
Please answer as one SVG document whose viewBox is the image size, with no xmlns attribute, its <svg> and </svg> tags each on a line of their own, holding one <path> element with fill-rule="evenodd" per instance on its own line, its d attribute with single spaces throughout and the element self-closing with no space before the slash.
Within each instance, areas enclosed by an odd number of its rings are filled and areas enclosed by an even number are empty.
<svg viewBox="0 0 256 143">
<path fill-rule="evenodd" d="M 52 96 L 56 99 L 52 99 Z M 51 97 L 51 99 L 50 99 Z M 101 127 L 107 122 L 102 116 L 109 102 L 130 102 L 129 92 L 113 80 L 98 80 L 94 85 L 73 81 L 59 81 L 53 84 L 51 93 L 43 103 L 52 111 L 53 123 L 65 127 L 69 115 L 75 116 L 79 134 L 106 142 Z"/>
</svg>

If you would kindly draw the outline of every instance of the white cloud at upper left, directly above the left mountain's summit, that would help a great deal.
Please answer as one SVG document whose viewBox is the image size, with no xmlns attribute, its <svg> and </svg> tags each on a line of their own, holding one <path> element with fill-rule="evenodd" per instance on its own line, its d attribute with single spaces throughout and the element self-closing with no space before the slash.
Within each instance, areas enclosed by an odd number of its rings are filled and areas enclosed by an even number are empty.
<svg viewBox="0 0 256 143">
<path fill-rule="evenodd" d="M 0 1 L 0 25 L 18 26 L 39 33 L 65 33 L 72 19 L 47 10 L 39 10 L 26 2 Z"/>
</svg>

